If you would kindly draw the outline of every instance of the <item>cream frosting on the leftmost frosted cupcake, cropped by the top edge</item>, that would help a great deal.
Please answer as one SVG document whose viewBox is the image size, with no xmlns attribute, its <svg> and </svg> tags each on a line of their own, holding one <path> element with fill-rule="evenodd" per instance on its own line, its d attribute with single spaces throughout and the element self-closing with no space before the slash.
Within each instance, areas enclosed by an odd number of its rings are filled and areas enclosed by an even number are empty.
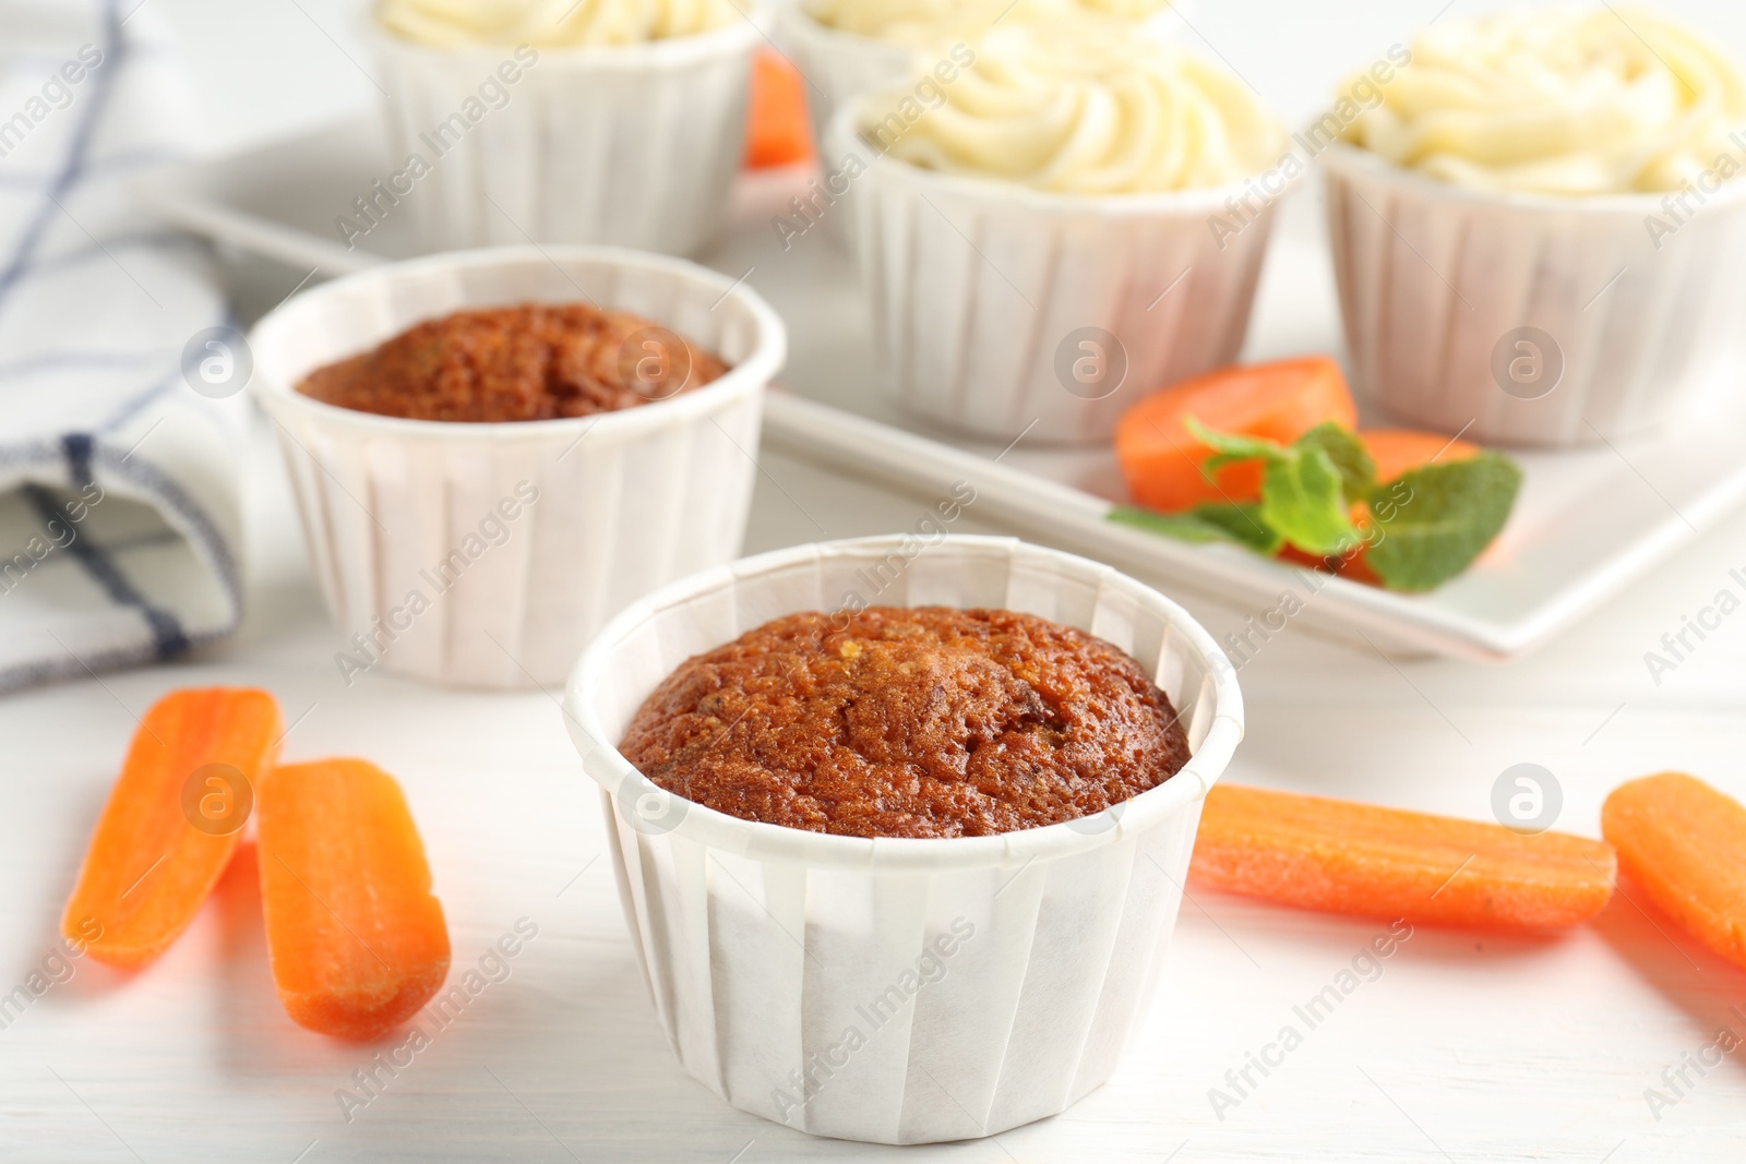
<svg viewBox="0 0 1746 1164">
<path fill-rule="evenodd" d="M 732 0 L 377 0 L 375 19 L 433 49 L 583 49 L 705 33 L 739 12 Z"/>
</svg>

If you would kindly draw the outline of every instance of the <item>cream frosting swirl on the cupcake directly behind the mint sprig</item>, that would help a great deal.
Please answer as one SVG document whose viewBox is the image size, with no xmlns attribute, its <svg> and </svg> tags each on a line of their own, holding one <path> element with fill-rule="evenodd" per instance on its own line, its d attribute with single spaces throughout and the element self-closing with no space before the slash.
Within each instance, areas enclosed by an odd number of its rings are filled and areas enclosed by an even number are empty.
<svg viewBox="0 0 1746 1164">
<path fill-rule="evenodd" d="M 962 65 L 950 80 L 922 73 L 861 103 L 873 148 L 1062 194 L 1220 187 L 1285 150 L 1285 131 L 1240 77 L 1121 21 L 1000 24 L 948 58 Z M 924 63 L 934 66 L 917 54 Z"/>
</svg>

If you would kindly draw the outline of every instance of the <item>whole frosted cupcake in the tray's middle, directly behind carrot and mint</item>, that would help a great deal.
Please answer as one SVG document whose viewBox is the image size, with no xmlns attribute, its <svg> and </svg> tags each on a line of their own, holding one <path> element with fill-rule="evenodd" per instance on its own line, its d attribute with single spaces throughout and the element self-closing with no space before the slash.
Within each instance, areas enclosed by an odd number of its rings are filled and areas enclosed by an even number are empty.
<svg viewBox="0 0 1746 1164">
<path fill-rule="evenodd" d="M 993 442 L 1100 443 L 1229 363 L 1304 171 L 1241 79 L 1093 19 L 920 54 L 831 141 L 887 393 Z"/>
</svg>

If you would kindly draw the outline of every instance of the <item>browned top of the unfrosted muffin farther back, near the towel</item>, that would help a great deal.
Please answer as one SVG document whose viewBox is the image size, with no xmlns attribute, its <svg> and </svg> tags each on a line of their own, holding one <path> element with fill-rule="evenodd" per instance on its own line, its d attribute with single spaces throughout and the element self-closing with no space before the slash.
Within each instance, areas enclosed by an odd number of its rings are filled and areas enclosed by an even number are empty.
<svg viewBox="0 0 1746 1164">
<path fill-rule="evenodd" d="M 588 304 L 522 304 L 426 319 L 297 391 L 412 421 L 553 421 L 634 408 L 728 370 L 641 316 Z"/>
</svg>

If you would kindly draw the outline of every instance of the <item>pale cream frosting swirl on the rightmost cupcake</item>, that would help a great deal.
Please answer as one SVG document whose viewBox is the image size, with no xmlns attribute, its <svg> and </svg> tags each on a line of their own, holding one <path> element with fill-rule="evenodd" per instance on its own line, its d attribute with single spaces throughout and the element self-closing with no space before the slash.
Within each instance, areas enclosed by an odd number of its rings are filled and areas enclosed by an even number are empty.
<svg viewBox="0 0 1746 1164">
<path fill-rule="evenodd" d="M 1348 86 L 1350 89 L 1350 86 Z M 1746 82 L 1727 56 L 1636 9 L 1449 19 L 1346 138 L 1481 190 L 1592 195 L 1678 190 L 1741 169 Z M 1722 162 L 1722 159 L 1729 159 Z"/>
</svg>

